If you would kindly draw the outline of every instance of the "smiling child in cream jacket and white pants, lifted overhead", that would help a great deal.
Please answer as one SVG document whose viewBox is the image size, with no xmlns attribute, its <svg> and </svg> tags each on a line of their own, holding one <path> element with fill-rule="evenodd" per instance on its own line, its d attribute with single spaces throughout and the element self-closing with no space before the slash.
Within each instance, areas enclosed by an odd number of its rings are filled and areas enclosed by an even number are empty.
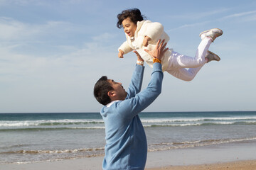
<svg viewBox="0 0 256 170">
<path fill-rule="evenodd" d="M 161 23 L 145 21 L 144 16 L 137 8 L 124 10 L 117 15 L 117 18 L 117 28 L 124 28 L 127 38 L 127 41 L 118 48 L 118 57 L 123 58 L 124 54 L 136 50 L 143 60 L 152 67 L 153 58 L 144 50 L 154 49 L 159 39 L 165 40 L 165 42 L 169 41 L 164 27 Z M 208 51 L 208 48 L 215 38 L 222 34 L 223 31 L 218 28 L 203 31 L 199 35 L 202 40 L 198 45 L 195 57 L 181 55 L 172 49 L 167 50 L 161 61 L 163 72 L 166 71 L 184 81 L 191 81 L 204 64 L 212 60 L 220 61 L 220 57 Z"/>
</svg>

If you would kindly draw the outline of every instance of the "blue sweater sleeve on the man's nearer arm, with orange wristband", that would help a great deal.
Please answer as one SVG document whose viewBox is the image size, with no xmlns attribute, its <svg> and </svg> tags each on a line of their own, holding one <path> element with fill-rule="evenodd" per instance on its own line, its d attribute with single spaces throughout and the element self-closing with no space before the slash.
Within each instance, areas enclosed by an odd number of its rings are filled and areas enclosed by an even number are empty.
<svg viewBox="0 0 256 170">
<path fill-rule="evenodd" d="M 117 112 L 124 119 L 132 119 L 135 115 L 143 111 L 161 94 L 161 85 L 164 74 L 160 63 L 154 63 L 153 72 L 149 85 L 136 96 L 117 103 Z"/>
</svg>

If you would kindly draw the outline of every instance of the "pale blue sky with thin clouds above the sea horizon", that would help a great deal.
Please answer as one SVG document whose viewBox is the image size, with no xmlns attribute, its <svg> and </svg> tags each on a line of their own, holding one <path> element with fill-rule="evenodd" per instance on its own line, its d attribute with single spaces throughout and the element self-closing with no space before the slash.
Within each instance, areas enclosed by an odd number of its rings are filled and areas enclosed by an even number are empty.
<svg viewBox="0 0 256 170">
<path fill-rule="evenodd" d="M 0 0 L 0 113 L 100 112 L 103 75 L 129 86 L 137 61 L 117 57 L 117 14 L 139 8 L 169 35 L 168 47 L 194 57 L 199 33 L 220 28 L 192 81 L 164 72 L 161 95 L 145 112 L 256 111 L 256 1 Z M 145 64 L 145 89 L 152 69 Z"/>
</svg>

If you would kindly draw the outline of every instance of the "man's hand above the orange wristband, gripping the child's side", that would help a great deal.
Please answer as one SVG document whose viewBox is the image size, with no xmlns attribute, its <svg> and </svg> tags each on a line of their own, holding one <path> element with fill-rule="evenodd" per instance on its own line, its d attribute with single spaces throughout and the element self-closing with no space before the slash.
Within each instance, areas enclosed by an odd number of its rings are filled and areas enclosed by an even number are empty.
<svg viewBox="0 0 256 170">
<path fill-rule="evenodd" d="M 161 58 L 164 56 L 164 52 L 166 52 L 167 50 L 169 50 L 169 48 L 166 48 L 167 43 L 164 43 L 164 40 L 158 40 L 156 43 L 156 47 L 154 48 L 154 50 L 145 50 L 145 52 L 149 53 L 149 55 L 151 55 L 151 57 L 153 58 L 157 58 L 158 60 L 161 60 Z"/>
</svg>

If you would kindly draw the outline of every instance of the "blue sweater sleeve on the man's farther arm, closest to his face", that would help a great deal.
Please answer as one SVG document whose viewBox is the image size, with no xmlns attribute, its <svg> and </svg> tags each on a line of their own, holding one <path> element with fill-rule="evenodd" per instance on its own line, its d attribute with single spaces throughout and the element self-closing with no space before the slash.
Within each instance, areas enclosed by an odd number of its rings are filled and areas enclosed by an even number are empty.
<svg viewBox="0 0 256 170">
<path fill-rule="evenodd" d="M 129 84 L 129 89 L 127 91 L 126 99 L 134 97 L 136 94 L 139 93 L 139 91 L 141 91 L 143 75 L 144 75 L 144 66 L 136 64 L 135 70 L 132 74 L 131 83 Z"/>
</svg>

